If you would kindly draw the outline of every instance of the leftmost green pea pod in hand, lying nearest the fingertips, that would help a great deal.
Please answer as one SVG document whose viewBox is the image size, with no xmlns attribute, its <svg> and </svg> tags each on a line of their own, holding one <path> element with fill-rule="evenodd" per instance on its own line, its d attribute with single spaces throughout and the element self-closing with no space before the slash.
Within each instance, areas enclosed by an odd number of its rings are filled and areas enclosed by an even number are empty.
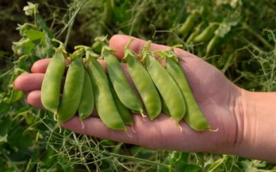
<svg viewBox="0 0 276 172">
<path fill-rule="evenodd" d="M 64 46 L 61 44 L 52 56 L 41 86 L 41 103 L 45 109 L 57 113 L 63 73 L 66 68 Z"/>
</svg>

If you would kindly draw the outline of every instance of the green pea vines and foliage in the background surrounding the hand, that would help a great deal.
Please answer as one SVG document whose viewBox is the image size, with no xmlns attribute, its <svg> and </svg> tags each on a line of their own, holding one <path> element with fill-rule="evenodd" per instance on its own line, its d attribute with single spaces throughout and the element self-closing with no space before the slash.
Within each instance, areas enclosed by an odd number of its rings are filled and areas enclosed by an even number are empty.
<svg viewBox="0 0 276 172">
<path fill-rule="evenodd" d="M 0 2 L 0 171 L 276 171 L 275 164 L 235 155 L 154 151 L 59 129 L 52 114 L 30 107 L 26 94 L 12 87 L 32 63 L 52 56 L 54 37 L 73 52 L 75 45 L 92 45 L 97 36 L 122 33 L 182 44 L 239 87 L 276 91 L 273 0 L 36 3 Z M 192 29 L 184 28 L 194 13 Z M 211 36 L 193 41 L 212 23 Z M 180 34 L 180 28 L 186 33 Z M 101 50 L 97 43 L 92 47 Z"/>
</svg>

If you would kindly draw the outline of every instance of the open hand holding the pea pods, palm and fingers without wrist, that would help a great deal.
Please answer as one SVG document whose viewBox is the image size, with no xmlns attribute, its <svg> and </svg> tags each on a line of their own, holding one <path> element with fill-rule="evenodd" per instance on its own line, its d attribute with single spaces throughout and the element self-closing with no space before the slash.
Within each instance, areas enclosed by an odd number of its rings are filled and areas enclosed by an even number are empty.
<svg viewBox="0 0 276 172">
<path fill-rule="evenodd" d="M 118 58 L 124 57 L 124 46 L 129 39 L 130 36 L 124 35 L 115 35 L 110 39 L 110 47 L 117 51 L 115 55 Z M 134 39 L 130 48 L 139 54 L 145 43 L 146 41 L 141 39 Z M 150 45 L 152 51 L 168 50 L 168 48 L 154 43 Z M 210 127 L 217 131 L 194 131 L 184 121 L 179 123 L 181 131 L 175 121 L 164 114 L 153 121 L 140 115 L 133 115 L 133 129 L 128 126 L 127 131 L 108 129 L 98 116 L 83 120 L 84 127 L 77 116 L 61 123 L 61 126 L 77 133 L 137 144 L 152 149 L 217 153 L 226 153 L 228 150 L 232 150 L 238 137 L 236 117 L 239 115 L 239 108 L 237 100 L 241 96 L 242 89 L 233 85 L 218 69 L 201 58 L 178 48 L 175 48 L 175 52 L 184 61 L 181 62 L 181 65 L 201 111 L 210 122 Z M 29 92 L 26 101 L 41 109 L 43 109 L 43 105 L 40 99 L 40 89 L 49 62 L 50 58 L 37 61 L 32 66 L 32 74 L 21 75 L 14 81 L 15 88 Z M 100 62 L 105 67 L 103 61 Z M 126 65 L 122 64 L 122 67 L 130 80 Z M 134 86 L 132 85 L 132 87 Z"/>
</svg>

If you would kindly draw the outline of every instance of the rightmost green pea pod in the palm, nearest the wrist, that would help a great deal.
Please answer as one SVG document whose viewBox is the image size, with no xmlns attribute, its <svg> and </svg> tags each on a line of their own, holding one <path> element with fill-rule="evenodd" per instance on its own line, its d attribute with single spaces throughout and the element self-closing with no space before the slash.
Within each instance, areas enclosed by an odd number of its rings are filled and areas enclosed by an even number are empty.
<svg viewBox="0 0 276 172">
<path fill-rule="evenodd" d="M 210 129 L 208 120 L 202 114 L 199 106 L 197 105 L 182 67 L 173 58 L 166 58 L 165 65 L 166 70 L 175 80 L 179 89 L 181 90 L 181 94 L 186 100 L 187 113 L 184 119 L 186 120 L 187 124 L 196 131 L 205 131 Z"/>
</svg>

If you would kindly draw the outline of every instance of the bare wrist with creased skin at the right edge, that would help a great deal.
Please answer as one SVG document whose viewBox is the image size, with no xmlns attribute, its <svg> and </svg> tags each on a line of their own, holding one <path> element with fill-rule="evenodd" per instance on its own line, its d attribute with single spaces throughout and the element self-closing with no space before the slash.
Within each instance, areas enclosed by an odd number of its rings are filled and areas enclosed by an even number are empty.
<svg viewBox="0 0 276 172">
<path fill-rule="evenodd" d="M 235 107 L 237 131 L 233 151 L 246 158 L 276 162 L 276 93 L 241 89 Z"/>
</svg>

